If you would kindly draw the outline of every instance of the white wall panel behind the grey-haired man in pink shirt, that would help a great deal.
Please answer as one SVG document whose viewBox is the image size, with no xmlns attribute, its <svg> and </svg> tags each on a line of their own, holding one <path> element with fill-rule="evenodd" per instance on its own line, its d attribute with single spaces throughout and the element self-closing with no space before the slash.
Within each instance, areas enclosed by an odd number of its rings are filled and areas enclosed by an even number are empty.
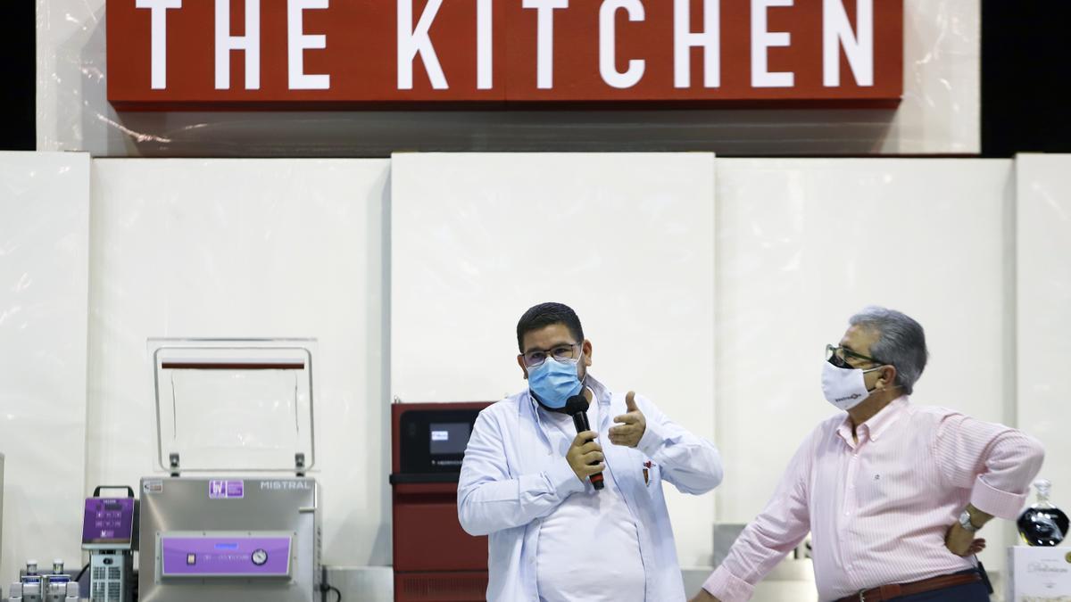
<svg viewBox="0 0 1071 602">
<path fill-rule="evenodd" d="M 925 328 L 914 403 L 1006 421 L 1011 179 L 1011 161 L 719 160 L 719 521 L 761 510 L 835 412 L 819 385 L 825 345 L 864 305 Z M 1004 539 L 992 531 L 991 569 Z"/>
</svg>

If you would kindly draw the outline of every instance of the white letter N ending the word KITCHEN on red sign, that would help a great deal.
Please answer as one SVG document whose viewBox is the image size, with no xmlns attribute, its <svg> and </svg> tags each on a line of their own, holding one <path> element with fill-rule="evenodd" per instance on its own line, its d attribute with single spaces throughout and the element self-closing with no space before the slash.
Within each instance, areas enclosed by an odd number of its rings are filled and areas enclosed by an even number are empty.
<svg viewBox="0 0 1071 602">
<path fill-rule="evenodd" d="M 874 85 L 874 0 L 856 1 L 857 35 L 841 0 L 824 0 L 821 5 L 823 84 L 841 85 L 841 44 L 859 86 Z"/>
</svg>

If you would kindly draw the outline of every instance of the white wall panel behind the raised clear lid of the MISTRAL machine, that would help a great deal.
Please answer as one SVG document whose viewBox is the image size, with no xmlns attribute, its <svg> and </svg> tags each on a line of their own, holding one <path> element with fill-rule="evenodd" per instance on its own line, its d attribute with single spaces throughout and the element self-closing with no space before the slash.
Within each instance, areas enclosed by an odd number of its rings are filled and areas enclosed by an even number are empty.
<svg viewBox="0 0 1071 602">
<path fill-rule="evenodd" d="M 93 164 L 87 483 L 153 470 L 150 336 L 314 336 L 325 561 L 390 561 L 387 161 Z"/>
</svg>

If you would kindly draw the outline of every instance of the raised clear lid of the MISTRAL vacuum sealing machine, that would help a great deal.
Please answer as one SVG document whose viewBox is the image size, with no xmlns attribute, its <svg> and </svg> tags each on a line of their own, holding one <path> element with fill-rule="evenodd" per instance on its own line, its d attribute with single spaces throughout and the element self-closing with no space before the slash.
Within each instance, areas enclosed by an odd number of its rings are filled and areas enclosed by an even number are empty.
<svg viewBox="0 0 1071 602">
<path fill-rule="evenodd" d="M 316 465 L 315 340 L 153 338 L 161 470 Z M 318 358 L 316 358 L 318 360 Z"/>
</svg>

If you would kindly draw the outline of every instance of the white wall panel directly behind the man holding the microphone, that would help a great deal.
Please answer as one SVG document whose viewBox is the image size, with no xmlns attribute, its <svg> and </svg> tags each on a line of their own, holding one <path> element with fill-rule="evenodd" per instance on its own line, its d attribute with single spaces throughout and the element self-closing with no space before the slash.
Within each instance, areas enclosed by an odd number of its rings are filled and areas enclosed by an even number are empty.
<svg viewBox="0 0 1071 602">
<path fill-rule="evenodd" d="M 576 310 L 591 374 L 713 434 L 711 154 L 399 154 L 392 166 L 391 392 L 525 388 L 516 323 Z M 682 566 L 709 563 L 713 500 L 669 492 Z"/>
</svg>

